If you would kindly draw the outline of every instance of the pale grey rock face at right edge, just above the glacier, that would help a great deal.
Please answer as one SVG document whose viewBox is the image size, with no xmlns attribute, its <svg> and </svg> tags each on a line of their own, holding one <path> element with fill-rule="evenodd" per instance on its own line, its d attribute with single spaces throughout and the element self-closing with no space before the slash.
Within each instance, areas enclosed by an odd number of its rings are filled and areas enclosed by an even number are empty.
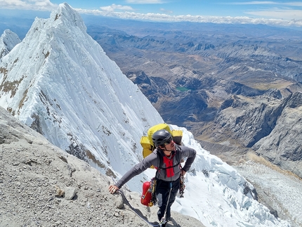
<svg viewBox="0 0 302 227">
<path fill-rule="evenodd" d="M 284 100 L 273 131 L 254 145 L 254 150 L 274 164 L 302 177 L 302 93 Z"/>
</svg>

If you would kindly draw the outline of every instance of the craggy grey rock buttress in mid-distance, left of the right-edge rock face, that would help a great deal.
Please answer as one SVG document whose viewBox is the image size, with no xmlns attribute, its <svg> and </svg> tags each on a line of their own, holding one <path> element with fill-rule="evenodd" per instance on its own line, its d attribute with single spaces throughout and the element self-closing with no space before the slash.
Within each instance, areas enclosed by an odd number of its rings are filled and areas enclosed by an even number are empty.
<svg viewBox="0 0 302 227">
<path fill-rule="evenodd" d="M 247 148 L 270 134 L 282 112 L 280 100 L 268 96 L 262 100 L 232 96 L 222 107 L 214 121 L 221 133 L 214 136 L 214 141 L 221 141 L 227 133 L 230 139 Z"/>
</svg>

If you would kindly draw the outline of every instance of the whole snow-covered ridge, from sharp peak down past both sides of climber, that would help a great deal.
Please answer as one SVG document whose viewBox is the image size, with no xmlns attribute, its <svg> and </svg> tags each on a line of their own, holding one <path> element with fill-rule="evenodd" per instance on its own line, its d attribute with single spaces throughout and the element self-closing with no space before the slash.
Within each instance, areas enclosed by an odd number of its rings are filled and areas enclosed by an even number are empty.
<svg viewBox="0 0 302 227">
<path fill-rule="evenodd" d="M 163 122 L 138 87 L 86 34 L 81 17 L 68 4 L 60 4 L 49 19 L 37 18 L 25 39 L 2 60 L 0 105 L 103 174 L 119 178 L 141 160 L 140 136 Z M 187 174 L 185 197 L 177 198 L 173 209 L 205 226 L 289 226 L 244 191 L 246 186 L 254 188 L 235 169 L 181 130 L 183 143 L 198 155 Z M 140 191 L 142 181 L 154 174 L 150 169 L 127 186 Z"/>
</svg>

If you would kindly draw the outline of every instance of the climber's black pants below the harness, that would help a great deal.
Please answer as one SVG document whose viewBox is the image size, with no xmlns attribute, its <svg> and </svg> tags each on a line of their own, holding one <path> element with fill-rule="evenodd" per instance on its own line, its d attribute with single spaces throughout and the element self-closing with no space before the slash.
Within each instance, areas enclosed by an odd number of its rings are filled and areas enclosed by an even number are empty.
<svg viewBox="0 0 302 227">
<path fill-rule="evenodd" d="M 171 205 L 175 201 L 176 194 L 178 192 L 180 186 L 180 179 L 177 179 L 176 181 L 163 181 L 157 179 L 157 186 L 156 186 L 156 196 L 157 196 L 157 204 L 159 206 L 159 211 L 157 212 L 157 217 L 159 221 L 162 220 L 162 217 L 164 216 L 164 211 L 166 210 L 166 218 L 169 219 L 171 216 Z M 171 195 L 169 198 L 170 188 Z M 169 198 L 169 201 L 168 201 Z M 168 205 L 166 209 L 166 205 Z"/>
</svg>

